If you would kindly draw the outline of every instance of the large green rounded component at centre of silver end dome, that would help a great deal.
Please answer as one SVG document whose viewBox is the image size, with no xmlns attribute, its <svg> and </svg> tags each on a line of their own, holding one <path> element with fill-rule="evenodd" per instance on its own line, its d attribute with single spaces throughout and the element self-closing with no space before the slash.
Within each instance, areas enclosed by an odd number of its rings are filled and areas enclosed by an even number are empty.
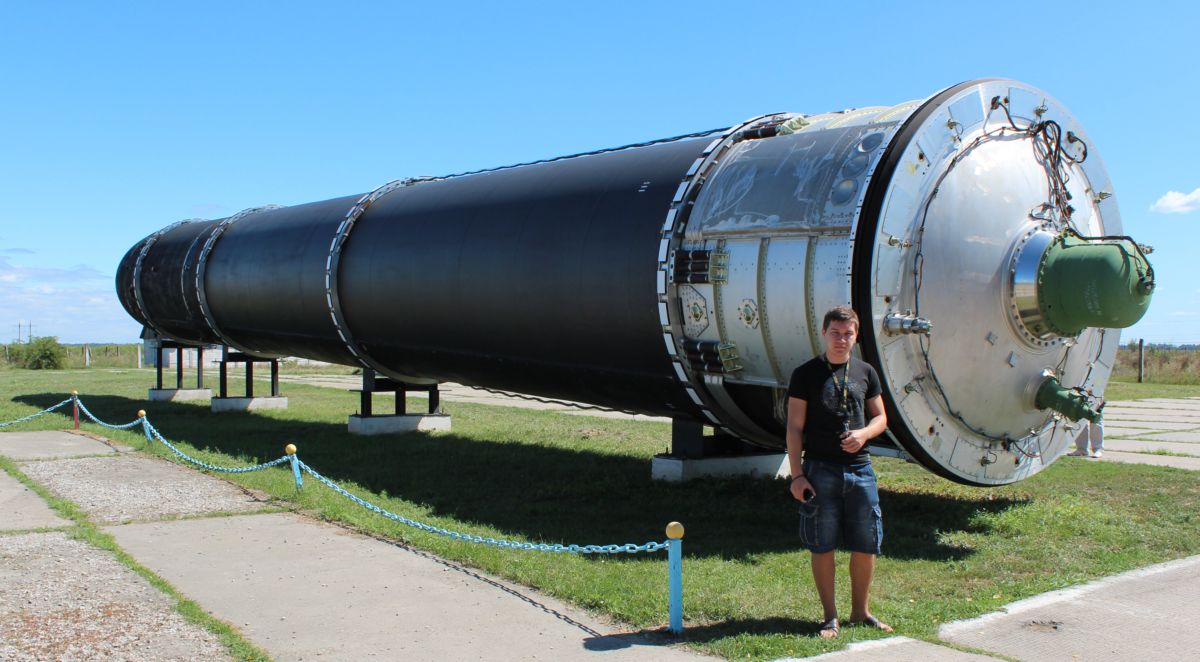
<svg viewBox="0 0 1200 662">
<path fill-rule="evenodd" d="M 1153 291 L 1154 270 L 1132 241 L 1061 235 L 1038 267 L 1042 319 L 1060 336 L 1133 326 L 1146 314 Z"/>
</svg>

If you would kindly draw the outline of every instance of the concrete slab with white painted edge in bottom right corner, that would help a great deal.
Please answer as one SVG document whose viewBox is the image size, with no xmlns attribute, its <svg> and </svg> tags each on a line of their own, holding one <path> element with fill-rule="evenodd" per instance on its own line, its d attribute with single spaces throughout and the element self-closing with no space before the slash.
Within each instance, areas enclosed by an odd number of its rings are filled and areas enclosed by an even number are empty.
<svg viewBox="0 0 1200 662">
<path fill-rule="evenodd" d="M 1027 662 L 1194 660 L 1198 594 L 1193 556 L 1014 602 L 938 636 Z"/>
</svg>

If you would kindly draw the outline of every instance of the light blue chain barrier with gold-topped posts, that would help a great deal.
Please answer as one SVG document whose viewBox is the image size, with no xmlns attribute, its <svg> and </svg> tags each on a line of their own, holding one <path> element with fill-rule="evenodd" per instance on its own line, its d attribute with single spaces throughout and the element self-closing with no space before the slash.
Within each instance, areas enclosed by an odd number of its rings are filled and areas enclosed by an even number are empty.
<svg viewBox="0 0 1200 662">
<path fill-rule="evenodd" d="M 386 508 L 383 508 L 380 506 L 377 506 L 376 504 L 372 504 L 371 501 L 367 501 L 366 499 L 362 499 L 360 496 L 356 496 L 356 495 L 352 494 L 350 492 L 348 492 L 342 486 L 337 485 L 336 482 L 334 482 L 332 480 L 325 477 L 324 475 L 322 475 L 319 471 L 317 471 L 312 467 L 308 467 L 307 464 L 305 464 L 304 462 L 301 462 L 300 458 L 296 457 L 296 449 L 295 449 L 295 446 L 293 446 L 290 444 L 287 447 L 287 455 L 284 455 L 283 457 L 280 457 L 277 459 L 272 459 L 270 462 L 264 462 L 263 464 L 256 464 L 253 467 L 239 467 L 239 468 L 217 467 L 215 464 L 209 464 L 208 462 L 204 462 L 202 459 L 197 459 L 197 458 L 194 458 L 194 457 L 185 453 L 184 451 L 179 450 L 174 444 L 172 444 L 169 440 L 167 440 L 167 438 L 163 437 L 162 433 L 160 433 L 156 427 L 154 427 L 154 425 L 150 422 L 150 419 L 146 417 L 146 414 L 145 414 L 144 410 L 143 411 L 138 411 L 138 417 L 134 419 L 133 421 L 128 422 L 128 423 L 125 423 L 125 425 L 108 423 L 106 421 L 100 420 L 95 414 L 92 414 L 90 410 L 88 410 L 88 408 L 83 404 L 83 401 L 80 401 L 77 395 L 72 395 L 71 397 L 68 397 L 67 399 L 65 399 L 65 401 L 55 404 L 54 407 L 43 409 L 41 411 L 37 411 L 36 414 L 31 414 L 29 416 L 25 416 L 25 417 L 22 417 L 22 419 L 17 419 L 14 421 L 8 421 L 8 422 L 5 422 L 5 423 L 0 423 L 0 427 L 8 427 L 8 426 L 13 426 L 13 425 L 24 422 L 24 421 L 29 421 L 29 420 L 36 419 L 38 416 L 43 416 L 46 414 L 49 414 L 50 411 L 54 411 L 56 409 L 66 407 L 67 404 L 71 404 L 72 402 L 76 404 L 76 407 L 79 408 L 79 411 L 83 411 L 83 414 L 85 416 L 88 416 L 88 419 L 90 419 L 91 421 L 94 421 L 94 422 L 96 422 L 96 423 L 98 423 L 101 426 L 104 426 L 107 428 L 110 428 L 110 429 L 128 429 L 128 428 L 132 428 L 132 427 L 134 427 L 137 425 L 140 425 L 142 426 L 142 432 L 145 433 L 146 443 L 148 444 L 152 445 L 155 443 L 155 440 L 157 440 L 163 446 L 166 446 L 168 450 L 170 450 L 173 453 L 175 453 L 176 456 L 179 456 L 181 459 L 184 459 L 184 461 L 186 461 L 186 462 L 188 462 L 191 464 L 194 464 L 197 467 L 200 467 L 203 469 L 208 469 L 210 471 L 220 471 L 220 473 L 224 473 L 224 474 L 248 474 L 251 471 L 260 471 L 263 469 L 270 469 L 271 467 L 278 467 L 278 465 L 281 465 L 281 464 L 283 464 L 283 463 L 287 462 L 287 463 L 292 464 L 292 473 L 293 473 L 294 479 L 295 479 L 296 489 L 300 489 L 300 488 L 304 487 L 304 480 L 301 477 L 301 473 L 305 473 L 305 474 L 308 474 L 310 476 L 312 476 L 313 479 L 316 479 L 318 482 L 320 482 L 325 487 L 332 489 L 337 494 L 341 494 L 342 496 L 349 499 L 350 501 L 358 504 L 359 506 L 362 506 L 364 508 L 366 508 L 366 510 L 368 510 L 371 512 L 380 514 L 380 516 L 383 516 L 383 517 L 385 517 L 388 519 L 391 519 L 392 522 L 398 522 L 401 524 L 404 524 L 406 526 L 412 526 L 412 528 L 421 530 L 421 531 L 426 531 L 426 532 L 430 532 L 430 534 L 436 534 L 436 535 L 439 535 L 439 536 L 445 536 L 445 537 L 451 538 L 451 540 L 458 540 L 458 541 L 472 542 L 472 543 L 478 543 L 478 544 L 488 544 L 488 546 L 492 546 L 492 547 L 500 547 L 500 548 L 505 548 L 505 549 L 518 549 L 518 550 L 528 550 L 528 552 L 565 553 L 565 554 L 638 554 L 638 553 L 644 553 L 644 552 L 659 552 L 659 550 L 666 549 L 667 550 L 667 574 L 668 574 L 668 610 L 670 610 L 670 614 L 668 614 L 670 615 L 670 622 L 668 622 L 667 630 L 670 630 L 672 633 L 676 633 L 676 634 L 679 634 L 679 633 L 683 632 L 683 552 L 682 552 L 683 526 L 679 523 L 677 523 L 677 522 L 672 522 L 667 526 L 667 537 L 668 537 L 668 540 L 666 540 L 664 542 L 650 541 L 650 542 L 646 542 L 646 543 L 642 543 L 642 544 L 634 544 L 634 543 L 625 543 L 625 544 L 558 544 L 558 543 L 554 543 L 554 544 L 547 544 L 547 543 L 536 543 L 536 542 L 521 542 L 521 541 L 516 541 L 516 540 L 496 538 L 496 537 L 491 537 L 491 536 L 480 536 L 480 535 L 474 535 L 474 534 L 464 534 L 464 532 L 461 532 L 461 531 L 452 531 L 450 529 L 444 529 L 442 526 L 434 526 L 432 524 L 426 524 L 424 522 L 418 522 L 415 519 L 410 519 L 410 518 L 404 517 L 402 514 L 396 514 L 396 513 L 394 513 L 394 512 L 391 512 L 391 511 L 389 511 Z"/>
</svg>

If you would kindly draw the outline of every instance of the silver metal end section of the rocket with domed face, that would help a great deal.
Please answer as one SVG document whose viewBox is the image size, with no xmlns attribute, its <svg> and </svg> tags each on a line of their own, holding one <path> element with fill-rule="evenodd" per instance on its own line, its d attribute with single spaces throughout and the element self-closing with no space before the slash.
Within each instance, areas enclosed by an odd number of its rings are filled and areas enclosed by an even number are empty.
<svg viewBox="0 0 1200 662">
<path fill-rule="evenodd" d="M 1050 162 L 1033 132 L 1048 121 L 1075 160 Z M 668 353 L 714 425 L 778 439 L 761 393 L 781 422 L 791 371 L 821 351 L 823 313 L 852 302 L 890 432 L 923 464 L 1002 485 L 1060 456 L 1078 426 L 1037 409 L 1038 386 L 1052 377 L 1098 401 L 1120 339 L 1034 336 L 1021 306 L 1027 245 L 1040 257 L 1060 231 L 1121 234 L 1074 116 L 1032 86 L 983 80 L 750 128 L 695 168 L 698 191 L 682 195 L 695 201 L 672 209 L 660 248 Z M 1058 181 L 1070 209 L 1054 199 Z M 697 255 L 706 277 L 690 267 Z M 697 344 L 721 348 L 724 363 L 697 360 Z"/>
</svg>

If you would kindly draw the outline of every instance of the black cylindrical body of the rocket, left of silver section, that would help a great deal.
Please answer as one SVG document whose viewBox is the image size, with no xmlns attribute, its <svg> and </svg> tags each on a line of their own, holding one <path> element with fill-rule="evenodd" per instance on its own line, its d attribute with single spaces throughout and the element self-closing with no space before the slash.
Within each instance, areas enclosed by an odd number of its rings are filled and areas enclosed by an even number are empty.
<svg viewBox="0 0 1200 662">
<path fill-rule="evenodd" d="M 655 255 L 665 210 L 709 140 L 421 181 L 374 201 L 340 257 L 347 332 L 392 373 L 695 416 L 662 350 Z M 206 258 L 221 335 L 263 356 L 356 365 L 326 299 L 330 243 L 359 195 L 263 210 Z M 131 315 L 221 343 L 196 264 L 217 222 L 184 223 L 118 275 Z"/>
</svg>

